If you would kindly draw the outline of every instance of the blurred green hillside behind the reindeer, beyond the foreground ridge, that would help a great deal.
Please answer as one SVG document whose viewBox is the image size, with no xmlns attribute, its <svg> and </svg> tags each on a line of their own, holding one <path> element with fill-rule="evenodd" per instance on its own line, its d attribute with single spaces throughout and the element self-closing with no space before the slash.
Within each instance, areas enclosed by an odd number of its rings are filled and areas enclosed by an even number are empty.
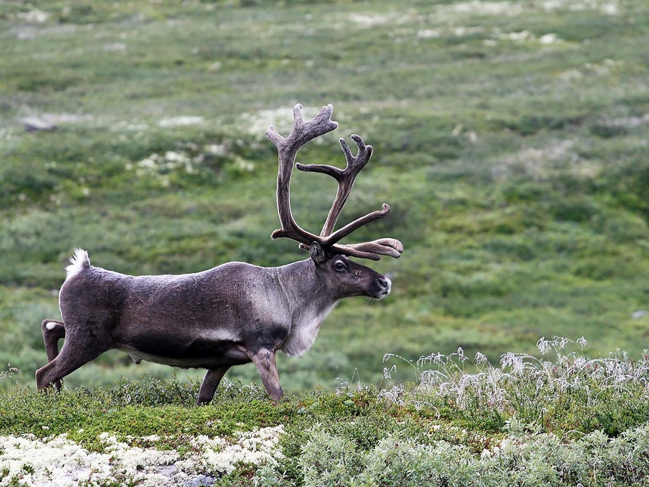
<svg viewBox="0 0 649 487">
<path fill-rule="evenodd" d="M 0 369 L 32 381 L 74 247 L 133 274 L 306 258 L 271 240 L 292 107 L 334 105 L 302 162 L 374 146 L 341 223 L 394 236 L 380 302 L 349 299 L 286 388 L 379 382 L 382 358 L 463 347 L 493 363 L 539 338 L 639 355 L 649 332 L 645 0 L 0 2 Z M 28 131 L 47 127 L 51 131 Z M 316 231 L 336 191 L 296 173 Z M 365 262 L 367 264 L 367 262 Z M 178 369 L 107 353 L 68 386 Z M 202 371 L 190 371 L 202 375 Z M 253 366 L 229 379 L 256 380 Z"/>
</svg>

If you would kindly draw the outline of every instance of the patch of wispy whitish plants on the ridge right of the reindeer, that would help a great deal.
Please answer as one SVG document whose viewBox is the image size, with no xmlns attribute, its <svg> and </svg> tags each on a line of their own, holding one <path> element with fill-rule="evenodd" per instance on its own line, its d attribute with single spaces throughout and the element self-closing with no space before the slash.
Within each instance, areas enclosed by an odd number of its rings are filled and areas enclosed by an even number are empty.
<svg viewBox="0 0 649 487">
<path fill-rule="evenodd" d="M 648 353 L 639 360 L 622 351 L 589 358 L 583 337 L 541 338 L 537 347 L 540 356 L 509 352 L 501 356 L 499 367 L 482 353 L 471 360 L 461 348 L 451 355 L 422 356 L 408 362 L 415 369 L 415 386 L 395 384 L 380 396 L 402 405 L 453 408 L 485 427 L 498 427 L 517 416 L 565 430 L 599 428 L 619 434 L 631 417 L 648 419 L 639 408 L 649 401 Z M 384 360 L 394 357 L 388 354 Z M 386 381 L 395 370 L 394 364 L 384 368 Z"/>
</svg>

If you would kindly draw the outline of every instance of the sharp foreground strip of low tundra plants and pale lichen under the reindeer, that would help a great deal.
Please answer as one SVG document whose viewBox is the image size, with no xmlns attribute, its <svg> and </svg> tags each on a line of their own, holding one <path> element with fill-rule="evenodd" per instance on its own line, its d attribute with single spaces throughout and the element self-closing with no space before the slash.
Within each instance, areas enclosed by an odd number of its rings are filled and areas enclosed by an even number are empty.
<svg viewBox="0 0 649 487">
<path fill-rule="evenodd" d="M 0 481 L 23 485 L 62 462 L 74 471 L 85 455 L 107 454 L 93 468 L 108 461 L 111 474 L 95 473 L 89 485 L 160 482 L 151 477 L 160 465 L 188 471 L 182 481 L 228 486 L 647 485 L 646 352 L 640 360 L 593 352 L 583 339 L 555 338 L 538 343 L 539 358 L 508 353 L 498 365 L 461 349 L 417 362 L 387 356 L 381 388 L 346 382 L 273 402 L 261 388 L 227 382 L 200 407 L 190 405 L 198 382 L 149 377 L 57 394 L 9 373 L 0 377 L 10 384 L 0 395 Z M 395 381 L 400 369 L 410 382 Z M 228 444 L 268 428 L 279 432 L 275 460 L 219 469 L 214 458 Z M 25 447 L 17 465 L 19 442 L 38 449 Z M 70 444 L 72 458 L 43 466 L 40 456 Z M 263 451 L 254 444 L 237 451 Z"/>
</svg>

